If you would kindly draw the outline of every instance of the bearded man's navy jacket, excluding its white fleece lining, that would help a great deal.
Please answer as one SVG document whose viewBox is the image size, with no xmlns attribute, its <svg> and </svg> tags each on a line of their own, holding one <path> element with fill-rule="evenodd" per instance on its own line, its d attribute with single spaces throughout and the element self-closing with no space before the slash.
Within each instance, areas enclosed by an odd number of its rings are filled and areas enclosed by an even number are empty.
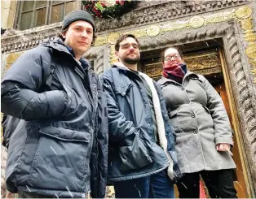
<svg viewBox="0 0 256 199">
<path fill-rule="evenodd" d="M 103 79 L 108 102 L 108 181 L 140 178 L 168 167 L 166 154 L 155 140 L 148 93 L 139 75 L 127 67 L 113 66 L 104 71 Z M 156 82 L 154 86 L 160 99 L 167 150 L 174 162 L 173 171 L 180 177 L 174 131 L 161 88 Z"/>
</svg>

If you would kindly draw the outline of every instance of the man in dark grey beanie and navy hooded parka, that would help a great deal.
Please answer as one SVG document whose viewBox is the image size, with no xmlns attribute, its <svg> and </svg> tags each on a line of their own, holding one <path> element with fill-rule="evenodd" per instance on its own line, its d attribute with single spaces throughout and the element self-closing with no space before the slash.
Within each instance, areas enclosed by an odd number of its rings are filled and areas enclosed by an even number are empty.
<svg viewBox="0 0 256 199">
<path fill-rule="evenodd" d="M 94 40 L 91 15 L 70 12 L 59 37 L 28 50 L 2 78 L 2 112 L 20 119 L 15 127 L 7 119 L 5 128 L 11 193 L 104 197 L 108 113 L 102 84 L 83 58 Z"/>
</svg>

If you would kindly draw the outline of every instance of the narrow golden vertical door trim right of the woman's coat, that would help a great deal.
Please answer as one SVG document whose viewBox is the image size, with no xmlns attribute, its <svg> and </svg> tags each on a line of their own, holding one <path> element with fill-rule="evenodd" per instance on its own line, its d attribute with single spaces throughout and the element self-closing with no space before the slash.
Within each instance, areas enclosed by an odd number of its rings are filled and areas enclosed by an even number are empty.
<svg viewBox="0 0 256 199">
<path fill-rule="evenodd" d="M 225 61 L 225 58 L 223 56 L 223 50 L 221 48 L 218 48 L 218 53 L 219 53 L 219 58 L 220 58 L 220 62 L 221 62 L 221 67 L 223 70 L 223 79 L 224 79 L 224 84 L 226 87 L 226 91 L 227 91 L 227 99 L 228 99 L 228 103 L 230 106 L 230 110 L 231 110 L 231 115 L 232 115 L 232 123 L 233 123 L 233 127 L 234 127 L 234 132 L 236 134 L 236 141 L 237 141 L 237 148 L 239 151 L 239 155 L 241 158 L 241 165 L 242 165 L 242 169 L 243 171 L 243 175 L 245 178 L 245 185 L 246 185 L 246 192 L 248 194 L 248 197 L 251 198 L 252 197 L 252 190 L 253 190 L 253 181 L 251 180 L 250 174 L 249 174 L 249 163 L 247 161 L 247 155 L 245 152 L 245 144 L 243 142 L 243 138 L 241 136 L 241 123 L 238 119 L 238 114 L 237 114 L 237 108 L 236 108 L 236 102 L 234 100 L 234 96 L 233 96 L 233 92 L 232 92 L 232 85 L 231 85 L 231 79 L 229 76 L 229 73 L 227 71 L 227 63 Z"/>
</svg>

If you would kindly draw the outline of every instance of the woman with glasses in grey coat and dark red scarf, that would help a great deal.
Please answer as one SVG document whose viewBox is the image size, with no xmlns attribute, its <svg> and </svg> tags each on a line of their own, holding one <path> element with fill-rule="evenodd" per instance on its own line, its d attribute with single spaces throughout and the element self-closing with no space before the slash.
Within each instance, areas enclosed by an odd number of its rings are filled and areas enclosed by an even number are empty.
<svg viewBox="0 0 256 199">
<path fill-rule="evenodd" d="M 204 76 L 188 71 L 179 50 L 162 54 L 161 89 L 170 123 L 176 132 L 176 150 L 183 177 L 179 197 L 199 197 L 199 175 L 210 197 L 235 198 L 231 157 L 232 129 L 221 97 Z"/>
</svg>

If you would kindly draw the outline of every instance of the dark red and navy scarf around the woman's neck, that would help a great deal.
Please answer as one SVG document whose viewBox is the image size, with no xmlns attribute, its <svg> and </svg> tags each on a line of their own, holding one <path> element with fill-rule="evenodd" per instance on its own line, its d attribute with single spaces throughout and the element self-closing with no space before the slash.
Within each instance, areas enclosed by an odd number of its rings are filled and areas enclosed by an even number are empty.
<svg viewBox="0 0 256 199">
<path fill-rule="evenodd" d="M 185 63 L 166 63 L 164 65 L 164 71 L 163 76 L 170 79 L 179 82 L 179 84 L 182 84 L 183 77 L 187 73 L 188 69 Z"/>
</svg>

